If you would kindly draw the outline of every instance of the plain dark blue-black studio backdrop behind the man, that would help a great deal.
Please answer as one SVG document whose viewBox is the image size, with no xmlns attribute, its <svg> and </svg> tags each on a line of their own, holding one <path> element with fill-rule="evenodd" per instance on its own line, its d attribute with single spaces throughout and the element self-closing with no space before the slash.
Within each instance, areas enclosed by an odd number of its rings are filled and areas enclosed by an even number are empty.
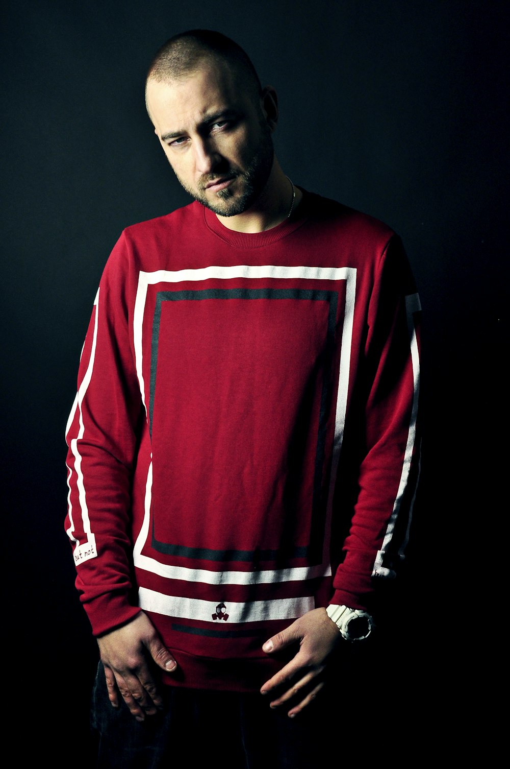
<svg viewBox="0 0 510 769">
<path fill-rule="evenodd" d="M 438 721 L 448 724 L 462 704 L 470 710 L 482 678 L 479 638 L 493 630 L 484 606 L 495 605 L 495 543 L 507 517 L 495 491 L 505 478 L 505 7 L 4 4 L 3 661 L 12 723 L 29 724 L 25 756 L 88 763 L 97 653 L 63 531 L 64 431 L 114 242 L 125 226 L 188 202 L 145 114 L 143 85 L 157 48 L 193 27 L 233 37 L 263 84 L 277 88 L 275 144 L 294 183 L 402 235 L 424 309 L 422 484 L 399 619 L 367 667 L 363 718 L 395 714 L 389 750 L 405 737 L 421 755 L 435 745 L 431 724 L 437 735 Z M 345 705 L 348 693 L 341 698 Z M 365 747 L 379 752 L 370 723 Z"/>
</svg>

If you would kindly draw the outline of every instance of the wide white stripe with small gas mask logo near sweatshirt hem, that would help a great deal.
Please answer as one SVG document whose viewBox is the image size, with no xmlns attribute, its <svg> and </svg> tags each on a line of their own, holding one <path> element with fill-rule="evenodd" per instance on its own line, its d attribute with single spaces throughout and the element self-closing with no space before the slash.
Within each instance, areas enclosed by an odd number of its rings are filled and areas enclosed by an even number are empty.
<svg viewBox="0 0 510 769">
<path fill-rule="evenodd" d="M 200 601 L 195 598 L 180 598 L 140 588 L 138 605 L 145 611 L 154 611 L 167 617 L 214 623 L 213 614 L 221 601 Z M 293 620 L 302 617 L 315 608 L 312 596 L 304 598 L 278 598 L 274 601 L 253 601 L 239 604 L 228 601 L 224 612 L 228 622 L 265 622 L 267 620 Z M 217 621 L 216 621 L 217 624 Z M 222 624 L 224 624 L 222 622 Z"/>
</svg>

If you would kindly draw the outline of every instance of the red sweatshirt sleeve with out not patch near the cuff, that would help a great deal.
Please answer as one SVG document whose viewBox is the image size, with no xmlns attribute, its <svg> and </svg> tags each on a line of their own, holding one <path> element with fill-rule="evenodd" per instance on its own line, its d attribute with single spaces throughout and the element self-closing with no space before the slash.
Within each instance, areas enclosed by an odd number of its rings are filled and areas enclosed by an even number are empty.
<svg viewBox="0 0 510 769">
<path fill-rule="evenodd" d="M 127 318 L 123 238 L 101 278 L 68 420 L 68 516 L 76 586 L 94 634 L 139 611 L 131 596 L 131 484 L 141 396 Z"/>
</svg>

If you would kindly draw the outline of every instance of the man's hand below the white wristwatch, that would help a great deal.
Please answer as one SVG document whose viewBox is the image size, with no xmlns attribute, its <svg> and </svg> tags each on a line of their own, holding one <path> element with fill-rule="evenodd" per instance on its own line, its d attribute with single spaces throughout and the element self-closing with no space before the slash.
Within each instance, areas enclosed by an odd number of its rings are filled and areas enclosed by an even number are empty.
<svg viewBox="0 0 510 769">
<path fill-rule="evenodd" d="M 300 644 L 296 656 L 260 689 L 261 694 L 275 694 L 278 690 L 279 696 L 270 702 L 270 707 L 291 704 L 292 700 L 289 716 L 292 718 L 303 711 L 323 688 L 328 659 L 341 642 L 338 628 L 323 608 L 308 611 L 266 641 L 262 648 L 267 654 L 282 651 L 290 644 Z"/>
</svg>

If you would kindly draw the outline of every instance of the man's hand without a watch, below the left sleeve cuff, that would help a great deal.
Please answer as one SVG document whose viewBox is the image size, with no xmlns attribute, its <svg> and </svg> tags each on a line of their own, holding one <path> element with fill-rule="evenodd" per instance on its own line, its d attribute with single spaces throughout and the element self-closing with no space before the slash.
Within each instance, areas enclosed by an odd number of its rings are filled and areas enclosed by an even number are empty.
<svg viewBox="0 0 510 769">
<path fill-rule="evenodd" d="M 98 638 L 101 662 L 114 707 L 119 694 L 137 721 L 154 715 L 163 706 L 151 674 L 149 655 L 166 673 L 177 669 L 177 662 L 161 642 L 154 625 L 143 611 L 121 628 Z"/>
</svg>

